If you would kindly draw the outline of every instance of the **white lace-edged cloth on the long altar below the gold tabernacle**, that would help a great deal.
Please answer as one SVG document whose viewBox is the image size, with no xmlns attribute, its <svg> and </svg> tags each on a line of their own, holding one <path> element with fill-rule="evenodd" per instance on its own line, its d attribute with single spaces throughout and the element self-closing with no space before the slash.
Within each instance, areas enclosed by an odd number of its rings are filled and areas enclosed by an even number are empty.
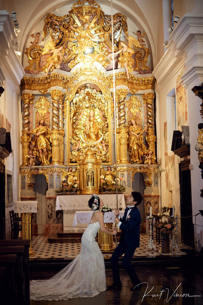
<svg viewBox="0 0 203 305">
<path fill-rule="evenodd" d="M 98 194 L 105 204 L 111 209 L 116 209 L 116 194 Z M 87 210 L 88 200 L 91 195 L 58 195 L 56 196 L 56 210 Z M 118 194 L 118 208 L 125 209 L 125 198 L 123 194 Z"/>
</svg>

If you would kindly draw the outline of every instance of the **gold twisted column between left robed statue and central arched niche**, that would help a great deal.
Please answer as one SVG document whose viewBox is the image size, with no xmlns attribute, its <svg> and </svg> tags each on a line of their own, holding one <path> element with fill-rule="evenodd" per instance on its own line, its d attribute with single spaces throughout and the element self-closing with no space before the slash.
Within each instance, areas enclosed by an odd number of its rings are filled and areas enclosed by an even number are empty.
<svg viewBox="0 0 203 305">
<path fill-rule="evenodd" d="M 63 97 L 60 90 L 51 90 L 52 98 L 52 162 L 63 164 Z"/>
</svg>

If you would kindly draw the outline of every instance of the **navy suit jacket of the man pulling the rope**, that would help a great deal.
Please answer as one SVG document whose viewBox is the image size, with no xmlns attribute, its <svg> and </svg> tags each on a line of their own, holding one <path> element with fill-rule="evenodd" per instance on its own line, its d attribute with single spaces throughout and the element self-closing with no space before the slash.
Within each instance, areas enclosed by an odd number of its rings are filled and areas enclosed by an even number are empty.
<svg viewBox="0 0 203 305">
<path fill-rule="evenodd" d="M 120 218 L 120 242 L 125 241 L 128 247 L 137 248 L 140 246 L 140 211 L 136 206 L 132 207 L 126 220 L 127 211 L 128 208 L 125 209 L 123 218 Z"/>
</svg>

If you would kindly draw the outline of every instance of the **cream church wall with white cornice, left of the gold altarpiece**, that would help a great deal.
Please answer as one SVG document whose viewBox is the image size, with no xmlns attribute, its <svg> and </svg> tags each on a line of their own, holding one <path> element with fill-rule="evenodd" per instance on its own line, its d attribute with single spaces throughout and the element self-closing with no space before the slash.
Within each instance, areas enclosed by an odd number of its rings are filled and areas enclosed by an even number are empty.
<svg viewBox="0 0 203 305">
<path fill-rule="evenodd" d="M 9 14 L 0 11 L 0 30 L 1 38 L 1 56 L 0 67 L 1 75 L 4 78 L 4 89 L 0 98 L 0 110 L 4 115 L 4 128 L 11 132 L 12 153 L 5 160 L 6 175 L 12 175 L 13 201 L 19 199 L 19 151 L 20 151 L 20 133 L 19 133 L 19 104 L 20 80 L 24 75 L 23 68 L 17 57 L 14 45 L 16 35 Z M 7 178 L 7 177 L 6 177 Z M 6 180 L 7 181 L 7 180 Z M 7 193 L 7 192 L 6 192 Z M 6 198 L 6 219 L 9 219 L 9 210 L 13 208 L 12 203 L 7 202 Z M 10 223 L 6 221 L 6 238 L 10 237 Z"/>
</svg>

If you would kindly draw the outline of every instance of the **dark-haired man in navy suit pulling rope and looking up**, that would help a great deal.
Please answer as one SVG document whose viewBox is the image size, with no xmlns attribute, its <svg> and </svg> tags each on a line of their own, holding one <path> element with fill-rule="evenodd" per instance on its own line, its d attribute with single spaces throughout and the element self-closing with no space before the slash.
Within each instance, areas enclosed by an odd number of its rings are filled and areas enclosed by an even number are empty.
<svg viewBox="0 0 203 305">
<path fill-rule="evenodd" d="M 140 211 L 137 208 L 141 204 L 143 197 L 138 192 L 132 192 L 131 195 L 126 199 L 128 206 L 125 209 L 124 216 L 121 218 L 119 216 L 119 210 L 115 211 L 115 223 L 122 230 L 121 237 L 118 247 L 115 249 L 112 257 L 111 264 L 113 270 L 113 285 L 109 289 L 121 289 L 122 283 L 119 274 L 119 257 L 124 253 L 122 260 L 122 267 L 127 271 L 130 280 L 132 282 L 132 287 L 130 290 L 135 290 L 139 288 L 141 283 L 136 271 L 130 265 L 132 256 L 136 248 L 140 246 Z"/>
</svg>

